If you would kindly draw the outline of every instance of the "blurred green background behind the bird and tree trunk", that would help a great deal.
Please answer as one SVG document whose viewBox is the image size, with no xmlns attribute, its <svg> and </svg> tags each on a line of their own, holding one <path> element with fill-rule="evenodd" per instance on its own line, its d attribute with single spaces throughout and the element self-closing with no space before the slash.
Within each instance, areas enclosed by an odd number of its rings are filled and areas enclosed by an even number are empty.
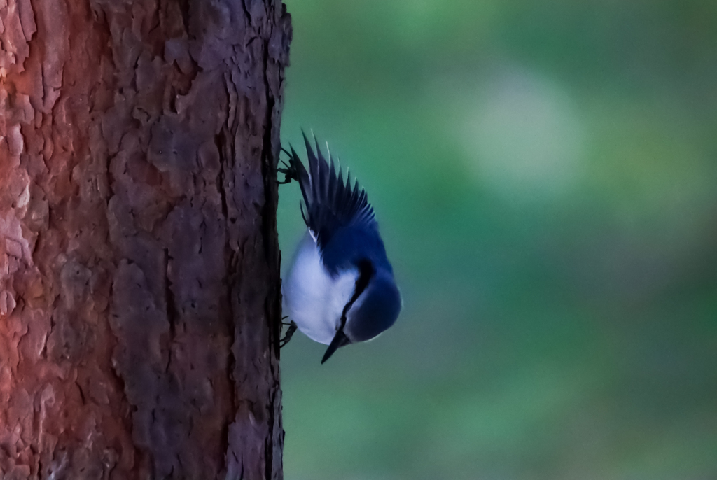
<svg viewBox="0 0 717 480">
<path fill-rule="evenodd" d="M 717 3 L 286 3 L 282 140 L 359 178 L 404 310 L 282 349 L 285 478 L 717 479 Z"/>
</svg>

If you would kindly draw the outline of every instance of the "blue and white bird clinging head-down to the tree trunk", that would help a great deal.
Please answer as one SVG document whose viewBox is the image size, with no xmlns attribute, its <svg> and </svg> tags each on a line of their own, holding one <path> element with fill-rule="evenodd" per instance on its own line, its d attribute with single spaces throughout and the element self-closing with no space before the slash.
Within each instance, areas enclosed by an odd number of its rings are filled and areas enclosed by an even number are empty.
<svg viewBox="0 0 717 480">
<path fill-rule="evenodd" d="M 344 181 L 341 166 L 337 172 L 331 151 L 327 161 L 315 137 L 315 151 L 305 133 L 303 138 L 308 170 L 291 146 L 282 148 L 288 168 L 278 169 L 286 174 L 280 183 L 298 181 L 307 226 L 282 297 L 292 321 L 287 337 L 298 327 L 328 345 L 323 364 L 338 348 L 374 339 L 394 325 L 403 302 L 366 191 L 358 180 L 351 186 L 348 170 Z"/>
</svg>

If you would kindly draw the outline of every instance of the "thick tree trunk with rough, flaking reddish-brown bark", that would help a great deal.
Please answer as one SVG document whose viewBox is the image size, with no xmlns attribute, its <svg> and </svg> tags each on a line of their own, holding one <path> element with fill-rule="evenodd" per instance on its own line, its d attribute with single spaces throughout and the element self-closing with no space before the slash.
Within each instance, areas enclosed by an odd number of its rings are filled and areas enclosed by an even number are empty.
<svg viewBox="0 0 717 480">
<path fill-rule="evenodd" d="M 0 478 L 280 479 L 280 0 L 0 0 Z"/>
</svg>

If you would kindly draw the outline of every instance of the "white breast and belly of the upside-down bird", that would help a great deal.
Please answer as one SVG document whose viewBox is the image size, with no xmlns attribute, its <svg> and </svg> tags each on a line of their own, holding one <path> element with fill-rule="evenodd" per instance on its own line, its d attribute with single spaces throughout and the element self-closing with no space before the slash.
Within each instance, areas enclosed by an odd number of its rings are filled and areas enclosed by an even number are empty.
<svg viewBox="0 0 717 480">
<path fill-rule="evenodd" d="M 358 277 L 357 270 L 331 277 L 321 263 L 316 242 L 307 233 L 282 284 L 284 312 L 311 340 L 328 345 Z"/>
</svg>

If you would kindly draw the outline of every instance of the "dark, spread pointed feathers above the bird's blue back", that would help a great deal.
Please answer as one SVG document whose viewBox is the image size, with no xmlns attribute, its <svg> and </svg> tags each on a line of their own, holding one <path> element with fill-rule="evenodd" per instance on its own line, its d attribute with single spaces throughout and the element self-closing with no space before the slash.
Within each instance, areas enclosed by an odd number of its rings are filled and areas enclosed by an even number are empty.
<svg viewBox="0 0 717 480">
<path fill-rule="evenodd" d="M 319 249 L 323 250 L 323 247 L 331 241 L 333 232 L 338 229 L 348 226 L 376 229 L 376 220 L 374 208 L 369 203 L 366 191 L 359 187 L 359 182 L 354 181 L 351 187 L 348 172 L 344 181 L 341 167 L 338 168 L 338 173 L 336 172 L 331 153 L 329 160 L 326 161 L 318 146 L 318 140 L 314 138 L 314 141 L 316 152 L 304 134 L 308 171 L 293 147 L 291 147 L 290 165 L 295 168 L 304 198 L 306 211 L 302 207 L 301 215 L 315 236 Z"/>
</svg>

